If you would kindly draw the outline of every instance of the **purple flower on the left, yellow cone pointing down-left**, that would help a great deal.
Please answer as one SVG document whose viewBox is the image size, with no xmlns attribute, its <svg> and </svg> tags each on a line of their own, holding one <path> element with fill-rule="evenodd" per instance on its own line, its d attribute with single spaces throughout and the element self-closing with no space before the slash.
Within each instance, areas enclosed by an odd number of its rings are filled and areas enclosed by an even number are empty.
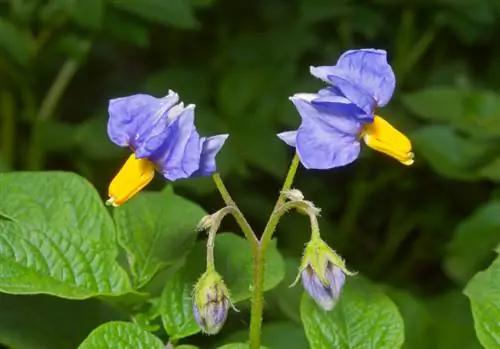
<svg viewBox="0 0 500 349">
<path fill-rule="evenodd" d="M 133 154 L 111 182 L 108 204 L 128 200 L 151 181 L 155 170 L 170 181 L 216 171 L 215 157 L 228 135 L 200 137 L 194 109 L 194 104 L 184 107 L 173 91 L 163 98 L 136 94 L 109 102 L 109 138 Z"/>
</svg>

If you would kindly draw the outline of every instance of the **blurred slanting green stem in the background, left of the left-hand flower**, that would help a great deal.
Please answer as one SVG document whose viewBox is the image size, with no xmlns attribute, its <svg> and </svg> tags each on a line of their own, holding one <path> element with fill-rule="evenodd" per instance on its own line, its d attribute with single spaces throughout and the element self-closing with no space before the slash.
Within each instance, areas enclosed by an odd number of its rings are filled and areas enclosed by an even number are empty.
<svg viewBox="0 0 500 349">
<path fill-rule="evenodd" d="M 90 42 L 86 43 L 85 51 L 90 49 Z M 38 110 L 36 120 L 33 125 L 33 130 L 31 133 L 31 139 L 29 144 L 28 153 L 28 163 L 27 167 L 31 170 L 39 170 L 43 166 L 44 153 L 41 147 L 42 129 L 43 125 L 47 120 L 49 120 L 64 94 L 64 91 L 68 87 L 71 79 L 75 75 L 76 71 L 80 66 L 80 60 L 76 58 L 69 58 L 63 64 L 59 73 L 57 74 L 52 86 L 50 86 L 49 91 L 45 95 L 45 98 L 40 105 Z"/>
</svg>

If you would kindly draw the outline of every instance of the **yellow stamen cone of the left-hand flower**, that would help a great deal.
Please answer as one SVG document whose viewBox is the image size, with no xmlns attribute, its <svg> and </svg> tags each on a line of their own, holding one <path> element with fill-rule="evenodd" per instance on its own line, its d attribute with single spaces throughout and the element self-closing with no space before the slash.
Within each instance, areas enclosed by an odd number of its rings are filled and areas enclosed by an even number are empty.
<svg viewBox="0 0 500 349">
<path fill-rule="evenodd" d="M 130 155 L 109 185 L 106 205 L 120 206 L 151 182 L 154 174 L 155 167 L 151 161 Z"/>
</svg>

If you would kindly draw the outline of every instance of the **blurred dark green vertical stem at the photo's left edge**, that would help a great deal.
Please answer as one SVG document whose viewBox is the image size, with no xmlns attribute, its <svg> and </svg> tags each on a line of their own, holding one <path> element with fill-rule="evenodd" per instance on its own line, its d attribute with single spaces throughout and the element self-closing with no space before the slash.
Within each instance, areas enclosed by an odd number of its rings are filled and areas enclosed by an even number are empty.
<svg viewBox="0 0 500 349">
<path fill-rule="evenodd" d="M 8 91 L 0 94 L 0 105 L 2 106 L 2 157 L 7 168 L 13 167 L 14 161 L 14 97 Z"/>
</svg>

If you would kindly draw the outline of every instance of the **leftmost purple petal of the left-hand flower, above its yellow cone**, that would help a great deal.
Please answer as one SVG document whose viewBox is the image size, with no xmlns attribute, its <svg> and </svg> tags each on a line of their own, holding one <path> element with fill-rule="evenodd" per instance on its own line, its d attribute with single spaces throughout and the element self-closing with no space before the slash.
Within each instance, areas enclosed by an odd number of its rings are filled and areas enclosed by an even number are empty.
<svg viewBox="0 0 500 349">
<path fill-rule="evenodd" d="M 166 114 L 179 100 L 173 91 L 163 98 L 146 94 L 112 99 L 109 102 L 108 135 L 121 147 L 132 147 L 139 157 L 146 157 L 162 143 L 167 127 Z M 151 150 L 153 149 L 153 150 Z"/>
</svg>

